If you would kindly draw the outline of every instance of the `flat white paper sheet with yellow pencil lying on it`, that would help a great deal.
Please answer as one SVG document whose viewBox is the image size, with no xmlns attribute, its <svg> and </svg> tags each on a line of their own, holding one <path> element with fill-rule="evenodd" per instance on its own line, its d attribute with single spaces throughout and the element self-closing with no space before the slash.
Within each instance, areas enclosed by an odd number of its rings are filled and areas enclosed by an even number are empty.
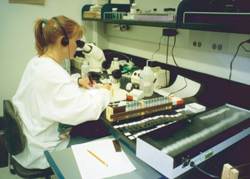
<svg viewBox="0 0 250 179">
<path fill-rule="evenodd" d="M 72 146 L 82 178 L 107 178 L 136 170 L 123 151 L 115 151 L 112 140 L 114 139 L 103 139 Z M 108 166 L 96 159 L 87 150 L 93 152 Z"/>
</svg>

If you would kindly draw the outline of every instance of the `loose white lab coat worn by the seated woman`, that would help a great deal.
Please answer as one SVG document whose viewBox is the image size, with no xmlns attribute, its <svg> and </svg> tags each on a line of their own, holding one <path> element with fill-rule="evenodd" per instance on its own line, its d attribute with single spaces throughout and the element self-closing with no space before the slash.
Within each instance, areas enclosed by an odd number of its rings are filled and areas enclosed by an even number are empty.
<svg viewBox="0 0 250 179">
<path fill-rule="evenodd" d="M 26 168 L 49 167 L 43 152 L 64 149 L 69 143 L 69 139 L 59 139 L 58 123 L 97 120 L 109 101 L 107 89 L 82 92 L 54 60 L 34 57 L 12 98 L 27 137 L 24 151 L 14 158 Z"/>
</svg>

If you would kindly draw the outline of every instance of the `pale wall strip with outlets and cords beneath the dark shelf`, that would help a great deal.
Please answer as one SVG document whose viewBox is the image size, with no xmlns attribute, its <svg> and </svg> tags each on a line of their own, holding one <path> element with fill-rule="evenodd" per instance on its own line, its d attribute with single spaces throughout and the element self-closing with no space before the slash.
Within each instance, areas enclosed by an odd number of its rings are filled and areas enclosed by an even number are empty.
<svg viewBox="0 0 250 179">
<path fill-rule="evenodd" d="M 109 48 L 124 53 L 152 59 L 158 49 L 161 27 L 130 26 L 128 31 L 113 30 L 115 25 L 106 25 Z M 206 32 L 178 29 L 174 57 L 179 67 L 199 71 L 213 76 L 228 79 L 230 62 L 238 44 L 249 39 L 249 35 L 221 32 Z M 193 47 L 193 41 L 201 41 L 202 47 Z M 171 50 L 174 38 L 170 38 L 168 64 L 174 65 Z M 223 44 L 222 50 L 213 50 L 212 44 Z M 167 37 L 162 37 L 161 48 L 153 56 L 154 61 L 166 63 Z M 250 44 L 244 44 L 250 49 Z M 250 84 L 250 53 L 242 48 L 233 63 L 232 80 Z"/>
</svg>

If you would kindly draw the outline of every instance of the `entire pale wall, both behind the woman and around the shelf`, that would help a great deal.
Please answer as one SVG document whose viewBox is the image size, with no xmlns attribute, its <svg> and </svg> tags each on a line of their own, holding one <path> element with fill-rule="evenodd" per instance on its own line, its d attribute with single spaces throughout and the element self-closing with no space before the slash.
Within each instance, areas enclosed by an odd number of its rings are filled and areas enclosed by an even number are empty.
<svg viewBox="0 0 250 179">
<path fill-rule="evenodd" d="M 113 0 L 115 3 L 128 3 L 129 0 Z M 112 1 L 112 2 L 113 2 Z M 0 1 L 0 116 L 2 101 L 11 99 L 15 94 L 24 68 L 36 55 L 34 47 L 33 25 L 37 18 L 51 18 L 57 15 L 68 16 L 86 26 L 86 40 L 97 43 L 102 48 L 141 56 L 151 59 L 158 48 L 162 28 L 130 26 L 130 30 L 119 32 L 112 30 L 113 24 L 82 22 L 81 8 L 84 4 L 105 3 L 107 0 L 46 0 L 45 5 L 9 4 Z M 147 10 L 164 6 L 177 7 L 179 0 L 136 0 L 138 7 Z M 196 39 L 197 38 L 197 39 Z M 210 33 L 202 31 L 179 30 L 175 48 L 175 58 L 179 66 L 215 75 L 222 78 L 229 76 L 229 64 L 238 44 L 249 39 L 249 35 L 230 33 Z M 193 40 L 202 41 L 202 48 L 191 46 Z M 154 60 L 165 62 L 166 41 L 162 38 L 160 51 Z M 210 49 L 212 42 L 223 43 L 223 51 Z M 170 39 L 170 45 L 173 38 Z M 246 48 L 250 49 L 247 44 Z M 169 63 L 173 64 L 169 50 Z M 250 55 L 242 49 L 233 65 L 232 79 L 250 85 Z"/>
</svg>

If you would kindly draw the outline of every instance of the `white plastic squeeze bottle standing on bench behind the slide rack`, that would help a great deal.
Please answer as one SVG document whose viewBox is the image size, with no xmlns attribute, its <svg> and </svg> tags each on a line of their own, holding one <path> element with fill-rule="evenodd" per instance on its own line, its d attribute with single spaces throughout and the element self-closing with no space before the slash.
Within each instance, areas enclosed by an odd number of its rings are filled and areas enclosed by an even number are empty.
<svg viewBox="0 0 250 179">
<path fill-rule="evenodd" d="M 149 66 L 145 66 L 140 73 L 139 88 L 144 92 L 145 97 L 153 95 L 154 92 L 154 72 Z"/>
</svg>

